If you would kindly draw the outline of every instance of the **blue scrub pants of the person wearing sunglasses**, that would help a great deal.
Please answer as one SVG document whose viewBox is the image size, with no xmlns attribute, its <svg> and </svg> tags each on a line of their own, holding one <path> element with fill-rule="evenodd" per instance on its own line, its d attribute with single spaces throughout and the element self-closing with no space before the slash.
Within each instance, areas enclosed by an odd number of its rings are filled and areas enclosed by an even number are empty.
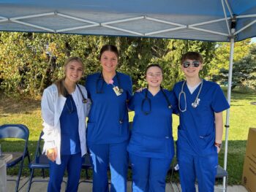
<svg viewBox="0 0 256 192">
<path fill-rule="evenodd" d="M 206 156 L 190 155 L 178 151 L 179 177 L 183 192 L 195 192 L 197 178 L 198 191 L 213 192 L 217 174 L 218 154 Z"/>
</svg>

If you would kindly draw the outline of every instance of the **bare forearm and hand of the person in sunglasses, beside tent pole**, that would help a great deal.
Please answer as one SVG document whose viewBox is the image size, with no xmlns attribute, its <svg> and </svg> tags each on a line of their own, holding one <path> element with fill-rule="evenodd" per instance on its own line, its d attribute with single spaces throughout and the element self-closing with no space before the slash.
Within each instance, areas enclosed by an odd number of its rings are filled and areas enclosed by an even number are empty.
<svg viewBox="0 0 256 192">
<path fill-rule="evenodd" d="M 221 144 L 222 143 L 222 134 L 223 134 L 223 118 L 222 112 L 214 112 L 215 117 L 215 143 Z M 220 147 L 217 146 L 217 152 L 219 153 Z"/>
</svg>

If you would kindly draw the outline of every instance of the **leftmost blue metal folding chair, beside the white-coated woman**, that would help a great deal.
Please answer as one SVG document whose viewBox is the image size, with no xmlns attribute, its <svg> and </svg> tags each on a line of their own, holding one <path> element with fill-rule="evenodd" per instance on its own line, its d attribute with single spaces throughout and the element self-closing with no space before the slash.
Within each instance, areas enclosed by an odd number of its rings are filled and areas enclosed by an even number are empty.
<svg viewBox="0 0 256 192">
<path fill-rule="evenodd" d="M 10 161 L 7 161 L 7 169 L 20 163 L 17 180 L 8 180 L 8 181 L 16 182 L 15 191 L 18 191 L 24 159 L 28 158 L 28 161 L 30 163 L 29 150 L 28 150 L 29 128 L 27 128 L 22 124 L 5 124 L 0 126 L 0 139 L 8 139 L 8 138 L 23 139 L 25 142 L 23 147 L 23 152 L 8 152 L 12 154 L 12 159 Z"/>
</svg>

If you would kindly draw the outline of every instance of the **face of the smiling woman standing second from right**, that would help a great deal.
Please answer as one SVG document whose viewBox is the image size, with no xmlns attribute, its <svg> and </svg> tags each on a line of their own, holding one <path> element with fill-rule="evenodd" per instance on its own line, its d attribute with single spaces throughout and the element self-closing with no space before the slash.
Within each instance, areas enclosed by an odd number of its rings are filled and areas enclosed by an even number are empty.
<svg viewBox="0 0 256 192">
<path fill-rule="evenodd" d="M 148 87 L 160 87 L 162 82 L 162 70 L 157 66 L 149 67 L 146 72 L 146 81 L 148 82 Z"/>
</svg>

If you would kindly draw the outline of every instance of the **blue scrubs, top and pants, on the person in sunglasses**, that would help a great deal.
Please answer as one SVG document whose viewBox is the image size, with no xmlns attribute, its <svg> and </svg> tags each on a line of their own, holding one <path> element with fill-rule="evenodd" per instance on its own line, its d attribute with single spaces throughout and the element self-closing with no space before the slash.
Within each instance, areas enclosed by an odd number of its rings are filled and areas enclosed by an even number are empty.
<svg viewBox="0 0 256 192">
<path fill-rule="evenodd" d="M 178 101 L 183 82 L 174 85 L 173 91 Z M 195 191 L 197 178 L 199 191 L 214 191 L 217 173 L 218 154 L 215 142 L 214 112 L 222 112 L 229 108 L 222 89 L 215 82 L 203 80 L 199 95 L 199 105 L 194 108 L 200 85 L 191 94 L 184 85 L 187 100 L 187 111 L 179 111 L 177 158 L 182 191 Z M 186 107 L 184 94 L 180 97 L 180 108 Z"/>
</svg>

